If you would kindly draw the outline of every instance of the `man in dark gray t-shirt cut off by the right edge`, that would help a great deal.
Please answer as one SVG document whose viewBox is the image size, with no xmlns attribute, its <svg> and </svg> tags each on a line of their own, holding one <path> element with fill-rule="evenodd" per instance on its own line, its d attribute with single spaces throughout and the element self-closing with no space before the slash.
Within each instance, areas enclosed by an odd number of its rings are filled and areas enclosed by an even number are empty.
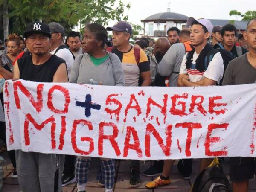
<svg viewBox="0 0 256 192">
<path fill-rule="evenodd" d="M 244 38 L 249 52 L 230 61 L 223 79 L 223 85 L 256 83 L 256 18 L 247 23 Z M 231 157 L 230 180 L 233 192 L 247 192 L 249 179 L 256 173 L 254 157 Z"/>
</svg>

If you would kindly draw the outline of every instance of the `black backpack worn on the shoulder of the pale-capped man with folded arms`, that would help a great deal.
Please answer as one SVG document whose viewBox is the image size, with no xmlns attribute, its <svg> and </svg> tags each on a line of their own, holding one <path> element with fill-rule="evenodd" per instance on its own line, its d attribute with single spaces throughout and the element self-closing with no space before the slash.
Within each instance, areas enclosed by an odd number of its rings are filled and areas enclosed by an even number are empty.
<svg viewBox="0 0 256 192">
<path fill-rule="evenodd" d="M 212 51 L 210 53 L 207 54 L 207 56 L 204 59 L 204 68 L 205 70 L 207 70 L 207 67 L 209 65 L 209 62 L 212 61 L 213 56 L 217 53 L 220 52 L 221 53 L 221 57 L 223 59 L 223 64 L 224 64 L 224 73 L 223 73 L 223 77 L 225 74 L 225 71 L 227 69 L 227 65 L 229 64 L 229 62 L 231 60 L 233 60 L 233 55 L 231 52 L 227 51 L 221 44 L 215 44 L 214 49 L 212 49 Z M 220 83 L 218 85 L 222 85 L 222 81 L 223 81 L 223 77 L 220 81 Z"/>
</svg>

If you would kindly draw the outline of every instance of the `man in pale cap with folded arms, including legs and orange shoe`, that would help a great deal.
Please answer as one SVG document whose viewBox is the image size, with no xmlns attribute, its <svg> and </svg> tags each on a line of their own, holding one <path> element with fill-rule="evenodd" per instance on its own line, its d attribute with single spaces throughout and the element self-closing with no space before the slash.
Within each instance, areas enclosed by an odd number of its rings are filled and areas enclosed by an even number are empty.
<svg viewBox="0 0 256 192">
<path fill-rule="evenodd" d="M 190 40 L 191 45 L 194 46 L 195 49 L 192 49 L 192 51 L 188 52 L 183 57 L 177 84 L 180 87 L 216 85 L 221 80 L 224 72 L 221 54 L 215 52 L 212 61 L 210 61 L 207 68 L 204 69 L 204 58 L 213 51 L 213 48 L 207 43 L 208 38 L 212 34 L 212 23 L 207 19 L 195 20 L 193 17 L 190 17 L 187 23 L 191 26 Z M 211 160 L 211 158 L 202 159 L 200 170 L 207 167 Z M 174 162 L 175 160 L 165 160 L 163 173 L 155 180 L 148 182 L 146 187 L 154 189 L 160 185 L 170 184 L 170 169 Z M 192 166 L 192 159 L 185 160 L 183 166 L 186 167 L 186 169 L 190 169 L 192 172 L 192 168 L 189 167 Z M 182 171 L 182 169 L 183 168 L 180 168 L 181 174 L 190 177 L 191 172 L 184 174 L 183 172 L 186 170 Z"/>
</svg>

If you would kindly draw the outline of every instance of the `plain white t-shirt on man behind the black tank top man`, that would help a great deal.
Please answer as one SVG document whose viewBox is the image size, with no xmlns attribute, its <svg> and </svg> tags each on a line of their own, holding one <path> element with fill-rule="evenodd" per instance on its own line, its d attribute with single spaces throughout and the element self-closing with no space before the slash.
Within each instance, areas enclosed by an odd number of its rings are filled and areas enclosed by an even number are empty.
<svg viewBox="0 0 256 192">
<path fill-rule="evenodd" d="M 58 49 L 58 47 L 56 48 Z M 51 51 L 51 54 L 54 55 L 56 49 L 54 49 L 53 51 Z M 64 59 L 64 61 L 66 61 L 66 65 L 67 65 L 67 76 L 70 76 L 70 72 L 71 72 L 71 68 L 74 62 L 74 58 L 73 55 L 71 54 L 70 50 L 67 48 L 64 49 L 60 49 L 58 50 L 58 52 L 56 52 L 55 54 L 56 56 Z"/>
</svg>

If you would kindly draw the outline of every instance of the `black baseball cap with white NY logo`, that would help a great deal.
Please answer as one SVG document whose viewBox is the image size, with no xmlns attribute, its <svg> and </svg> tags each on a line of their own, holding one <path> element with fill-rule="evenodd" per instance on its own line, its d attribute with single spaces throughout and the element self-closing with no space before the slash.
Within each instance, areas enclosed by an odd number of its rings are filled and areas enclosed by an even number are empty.
<svg viewBox="0 0 256 192">
<path fill-rule="evenodd" d="M 26 30 L 24 32 L 24 37 L 28 38 L 28 36 L 31 33 L 43 33 L 43 34 L 49 36 L 49 38 L 52 38 L 52 34 L 50 32 L 49 26 L 46 23 L 41 23 L 38 21 L 29 23 L 26 26 Z"/>
</svg>

